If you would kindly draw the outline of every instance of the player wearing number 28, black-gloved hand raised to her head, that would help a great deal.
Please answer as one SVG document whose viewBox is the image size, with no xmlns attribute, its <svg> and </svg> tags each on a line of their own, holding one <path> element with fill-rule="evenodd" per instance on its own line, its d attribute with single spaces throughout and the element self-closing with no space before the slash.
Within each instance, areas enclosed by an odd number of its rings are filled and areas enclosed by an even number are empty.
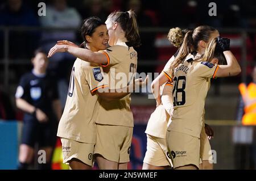
<svg viewBox="0 0 256 181">
<path fill-rule="evenodd" d="M 203 57 L 189 58 L 188 54 L 199 48 L 194 33 L 195 30 L 186 33 L 179 53 L 171 63 L 174 113 L 166 139 L 174 169 L 199 169 L 200 133 L 210 78 L 241 72 L 236 57 L 229 50 L 229 39 L 214 38 Z M 227 65 L 223 65 L 225 59 Z"/>
</svg>

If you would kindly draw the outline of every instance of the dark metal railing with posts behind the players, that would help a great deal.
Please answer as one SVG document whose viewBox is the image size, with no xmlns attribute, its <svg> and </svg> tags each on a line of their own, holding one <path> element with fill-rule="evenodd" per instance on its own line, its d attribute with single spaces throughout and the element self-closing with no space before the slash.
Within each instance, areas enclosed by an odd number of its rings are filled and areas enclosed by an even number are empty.
<svg viewBox="0 0 256 181">
<path fill-rule="evenodd" d="M 168 33 L 170 28 L 160 28 L 160 27 L 142 27 L 140 28 L 141 33 Z M 9 59 L 9 35 L 10 31 L 16 31 L 16 32 L 24 32 L 24 31 L 43 31 L 43 32 L 54 32 L 54 31 L 77 31 L 77 29 L 74 28 L 46 28 L 46 27 L 15 27 L 15 26 L 0 26 L 0 32 L 3 32 L 3 60 L 0 60 L 0 65 L 4 66 L 4 81 L 3 85 L 5 90 L 9 90 L 9 73 L 10 73 L 10 65 L 20 65 L 20 64 L 28 64 L 27 60 L 10 60 Z M 242 74 L 241 74 L 241 81 L 246 81 L 246 68 L 247 68 L 247 60 L 246 60 L 246 54 L 247 54 L 247 47 L 246 47 L 246 39 L 248 33 L 255 33 L 256 29 L 241 29 L 241 28 L 221 28 L 219 29 L 221 33 L 236 33 L 240 34 L 242 37 L 242 46 L 241 46 L 241 68 L 242 68 Z M 152 37 L 155 39 L 155 37 Z M 244 46 L 243 46 L 244 45 Z M 171 56 L 171 55 L 170 55 Z M 161 65 L 164 64 L 163 61 L 148 61 L 148 60 L 140 60 L 139 65 L 142 66 L 150 66 L 150 65 Z"/>
</svg>

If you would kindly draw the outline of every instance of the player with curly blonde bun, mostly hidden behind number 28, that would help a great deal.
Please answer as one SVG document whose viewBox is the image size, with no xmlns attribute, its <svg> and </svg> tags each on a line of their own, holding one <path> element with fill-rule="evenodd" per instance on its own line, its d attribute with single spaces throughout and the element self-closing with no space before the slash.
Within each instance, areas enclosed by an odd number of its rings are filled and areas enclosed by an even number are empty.
<svg viewBox="0 0 256 181">
<path fill-rule="evenodd" d="M 177 48 L 180 48 L 183 42 L 185 33 L 189 30 L 181 30 L 180 28 L 171 28 L 168 32 L 168 40 Z M 178 51 L 174 54 L 176 57 Z M 167 82 L 162 87 L 161 103 L 156 110 L 152 113 L 150 120 L 148 120 L 147 129 L 147 151 L 143 160 L 143 169 L 166 169 L 171 167 L 170 154 L 167 151 L 166 146 L 166 131 L 167 125 L 170 124 L 170 115 L 173 111 L 172 104 L 172 83 Z M 206 125 L 206 130 L 209 136 L 206 136 L 204 129 L 202 129 L 201 135 L 201 153 L 200 158 L 203 159 L 202 169 L 212 168 L 212 163 L 209 163 L 209 151 L 211 150 L 209 144 L 209 138 L 212 138 L 213 131 Z M 206 139 L 205 139 L 206 138 Z"/>
</svg>

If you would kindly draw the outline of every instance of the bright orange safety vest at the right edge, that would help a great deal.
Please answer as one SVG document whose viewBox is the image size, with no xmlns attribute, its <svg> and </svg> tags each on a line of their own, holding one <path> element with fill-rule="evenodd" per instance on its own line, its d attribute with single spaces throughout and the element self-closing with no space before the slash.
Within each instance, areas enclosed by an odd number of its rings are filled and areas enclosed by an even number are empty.
<svg viewBox="0 0 256 181">
<path fill-rule="evenodd" d="M 250 83 L 247 87 L 245 83 L 238 86 L 245 104 L 245 114 L 242 117 L 243 125 L 256 125 L 256 84 Z"/>
</svg>

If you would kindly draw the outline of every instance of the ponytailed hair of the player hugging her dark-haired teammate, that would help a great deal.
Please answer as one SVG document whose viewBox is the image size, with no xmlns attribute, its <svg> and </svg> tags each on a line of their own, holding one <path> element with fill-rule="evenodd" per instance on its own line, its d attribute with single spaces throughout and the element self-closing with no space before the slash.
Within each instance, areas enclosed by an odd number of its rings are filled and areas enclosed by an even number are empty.
<svg viewBox="0 0 256 181">
<path fill-rule="evenodd" d="M 136 20 L 136 14 L 133 10 L 126 12 L 114 11 L 108 19 L 112 22 L 117 22 L 125 32 L 125 37 L 133 45 L 133 47 L 139 47 L 141 45 L 141 37 L 139 36 L 139 28 Z"/>
</svg>

